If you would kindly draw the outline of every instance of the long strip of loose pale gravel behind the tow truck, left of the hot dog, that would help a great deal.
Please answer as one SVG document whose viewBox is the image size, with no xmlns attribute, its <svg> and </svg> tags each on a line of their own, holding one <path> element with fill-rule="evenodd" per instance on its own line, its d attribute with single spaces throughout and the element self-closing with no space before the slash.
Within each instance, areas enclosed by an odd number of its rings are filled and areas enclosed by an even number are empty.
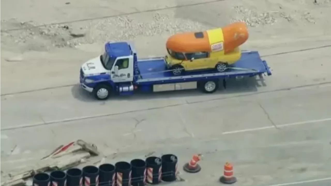
<svg viewBox="0 0 331 186">
<path fill-rule="evenodd" d="M 140 17 L 144 16 L 144 19 Z M 16 23 L 15 31 L 0 32 L 2 43 L 14 43 L 30 50 L 49 50 L 51 47 L 75 47 L 80 44 L 132 40 L 136 36 L 173 34 L 187 30 L 206 29 L 206 26 L 189 20 L 174 19 L 171 14 L 153 13 L 146 15 L 121 16 L 80 23 L 33 27 L 36 23 Z M 143 20 L 143 21 L 142 21 Z M 7 27 L 14 20 L 2 21 Z M 17 25 L 16 25 L 17 26 Z"/>
</svg>

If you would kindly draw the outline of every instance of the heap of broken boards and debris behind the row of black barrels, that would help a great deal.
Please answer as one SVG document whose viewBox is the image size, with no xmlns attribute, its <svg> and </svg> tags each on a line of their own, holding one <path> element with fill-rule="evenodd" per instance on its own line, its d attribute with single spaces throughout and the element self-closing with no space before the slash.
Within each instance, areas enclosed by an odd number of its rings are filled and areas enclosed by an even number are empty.
<svg viewBox="0 0 331 186">
<path fill-rule="evenodd" d="M 21 186 L 25 185 L 25 180 L 36 173 L 65 170 L 75 167 L 91 156 L 99 156 L 100 152 L 94 144 L 89 144 L 83 140 L 71 142 L 68 145 L 61 145 L 51 154 L 43 157 L 34 168 L 22 172 L 8 174 L 8 180 L 0 183 L 0 186 Z"/>
</svg>

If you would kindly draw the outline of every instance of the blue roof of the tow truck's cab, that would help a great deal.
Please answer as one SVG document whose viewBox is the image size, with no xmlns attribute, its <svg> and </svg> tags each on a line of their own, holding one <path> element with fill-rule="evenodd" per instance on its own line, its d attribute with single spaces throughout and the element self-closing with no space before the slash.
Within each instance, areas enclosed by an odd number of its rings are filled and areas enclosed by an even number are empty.
<svg viewBox="0 0 331 186">
<path fill-rule="evenodd" d="M 132 55 L 131 47 L 127 42 L 106 43 L 105 50 L 114 58 Z"/>
</svg>

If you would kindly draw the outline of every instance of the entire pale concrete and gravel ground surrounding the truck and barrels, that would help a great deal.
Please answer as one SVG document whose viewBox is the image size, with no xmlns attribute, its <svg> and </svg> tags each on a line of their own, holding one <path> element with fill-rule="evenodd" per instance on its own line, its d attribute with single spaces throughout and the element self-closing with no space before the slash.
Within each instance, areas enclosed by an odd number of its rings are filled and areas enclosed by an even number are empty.
<svg viewBox="0 0 331 186">
<path fill-rule="evenodd" d="M 176 154 L 184 164 L 193 153 L 205 154 L 201 173 L 184 173 L 187 181 L 175 183 L 183 186 L 215 185 L 226 161 L 235 163 L 241 186 L 328 177 L 330 8 L 330 0 L 4 0 L 2 174 L 59 143 L 87 138 L 106 154 L 118 152 L 109 162 L 156 152 Z M 249 26 L 243 49 L 259 50 L 272 68 L 263 83 L 233 81 L 213 95 L 185 91 L 104 102 L 77 85 L 81 64 L 107 41 L 132 41 L 139 57 L 161 56 L 173 33 L 234 21 Z"/>
</svg>

